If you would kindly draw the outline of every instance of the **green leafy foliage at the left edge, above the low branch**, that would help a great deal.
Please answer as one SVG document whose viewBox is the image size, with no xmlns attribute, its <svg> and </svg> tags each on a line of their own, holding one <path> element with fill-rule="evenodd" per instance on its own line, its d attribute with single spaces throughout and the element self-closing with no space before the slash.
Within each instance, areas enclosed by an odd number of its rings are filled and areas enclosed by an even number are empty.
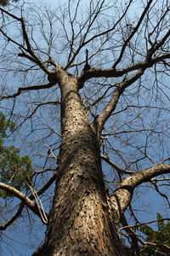
<svg viewBox="0 0 170 256">
<path fill-rule="evenodd" d="M 20 156 L 20 149 L 14 146 L 4 146 L 4 139 L 8 131 L 14 130 L 14 123 L 5 119 L 0 112 L 0 182 L 7 183 L 15 189 L 25 189 L 31 183 L 31 159 Z M 7 197 L 7 192 L 0 189 L 0 196 Z"/>
</svg>

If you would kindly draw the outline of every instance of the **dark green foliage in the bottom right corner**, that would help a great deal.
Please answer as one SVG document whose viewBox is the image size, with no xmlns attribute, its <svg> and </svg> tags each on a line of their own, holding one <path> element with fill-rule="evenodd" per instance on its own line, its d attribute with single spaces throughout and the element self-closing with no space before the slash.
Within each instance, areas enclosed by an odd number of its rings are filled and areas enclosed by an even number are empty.
<svg viewBox="0 0 170 256">
<path fill-rule="evenodd" d="M 162 218 L 160 213 L 156 213 L 157 220 Z M 162 256 L 170 255 L 170 221 L 158 221 L 157 230 L 151 229 L 147 225 L 139 227 L 139 231 L 142 232 L 146 238 L 145 241 L 152 244 L 144 247 L 144 250 L 140 255 L 142 256 Z"/>
</svg>

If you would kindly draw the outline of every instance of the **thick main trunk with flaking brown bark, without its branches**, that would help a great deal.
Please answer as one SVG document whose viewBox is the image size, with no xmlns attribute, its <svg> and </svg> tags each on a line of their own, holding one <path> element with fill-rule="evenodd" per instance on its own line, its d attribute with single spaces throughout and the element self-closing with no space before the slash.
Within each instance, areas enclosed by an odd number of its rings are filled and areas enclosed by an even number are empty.
<svg viewBox="0 0 170 256">
<path fill-rule="evenodd" d="M 62 142 L 47 237 L 48 256 L 123 255 L 109 214 L 96 133 L 77 79 L 58 74 Z"/>
</svg>

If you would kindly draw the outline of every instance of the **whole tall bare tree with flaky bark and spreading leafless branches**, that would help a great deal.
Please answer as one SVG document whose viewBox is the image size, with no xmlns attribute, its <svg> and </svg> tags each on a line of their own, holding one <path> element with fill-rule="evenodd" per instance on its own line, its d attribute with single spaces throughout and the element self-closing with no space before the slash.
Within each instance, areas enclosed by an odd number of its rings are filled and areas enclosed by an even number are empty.
<svg viewBox="0 0 170 256">
<path fill-rule="evenodd" d="M 32 255 L 139 255 L 142 241 L 127 220 L 129 211 L 138 222 L 138 188 L 150 184 L 168 203 L 160 185 L 170 172 L 170 6 L 110 2 L 69 0 L 51 11 L 25 4 L 18 15 L 1 9 L 1 100 L 15 131 L 46 158 L 31 195 L 0 184 L 21 201 L 10 224 L 26 206 L 48 226 Z M 54 182 L 48 214 L 42 193 Z"/>
</svg>

